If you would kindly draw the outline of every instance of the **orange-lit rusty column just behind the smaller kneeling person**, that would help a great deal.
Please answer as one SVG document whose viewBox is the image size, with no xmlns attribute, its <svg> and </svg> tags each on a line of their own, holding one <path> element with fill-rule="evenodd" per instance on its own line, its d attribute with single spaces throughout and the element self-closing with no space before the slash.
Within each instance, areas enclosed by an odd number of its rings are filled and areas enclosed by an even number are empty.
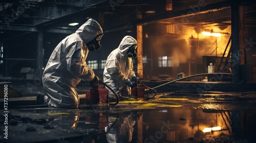
<svg viewBox="0 0 256 143">
<path fill-rule="evenodd" d="M 143 79 L 143 61 L 142 61 L 142 26 L 137 25 L 137 42 L 138 42 L 138 47 L 137 47 L 137 76 L 139 79 Z"/>
</svg>

